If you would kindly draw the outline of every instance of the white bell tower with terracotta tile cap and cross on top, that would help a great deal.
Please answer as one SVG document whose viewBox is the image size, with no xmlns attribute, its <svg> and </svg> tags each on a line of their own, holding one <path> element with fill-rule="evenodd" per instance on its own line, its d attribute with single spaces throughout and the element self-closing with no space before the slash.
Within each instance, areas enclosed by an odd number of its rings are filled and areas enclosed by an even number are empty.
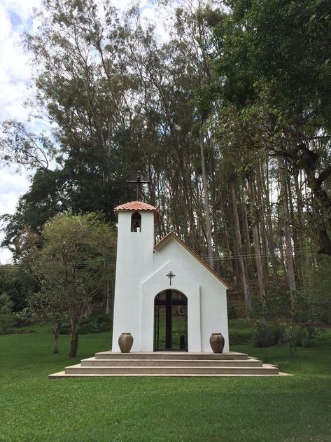
<svg viewBox="0 0 331 442">
<path fill-rule="evenodd" d="M 137 177 L 137 188 L 139 179 Z M 143 182 L 143 181 L 140 181 Z M 139 191 L 137 191 L 137 196 Z M 115 208 L 118 215 L 113 352 L 119 352 L 118 337 L 132 333 L 132 351 L 141 351 L 141 284 L 153 272 L 154 226 L 159 212 L 142 201 L 127 202 Z"/>
</svg>

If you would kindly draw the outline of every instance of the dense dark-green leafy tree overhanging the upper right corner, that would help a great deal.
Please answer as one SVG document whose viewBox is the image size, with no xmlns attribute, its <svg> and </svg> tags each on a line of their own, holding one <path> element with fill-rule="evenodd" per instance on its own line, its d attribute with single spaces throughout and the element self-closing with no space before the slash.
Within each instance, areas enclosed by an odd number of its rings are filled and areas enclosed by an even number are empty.
<svg viewBox="0 0 331 442">
<path fill-rule="evenodd" d="M 330 3 L 227 6 L 231 13 L 214 34 L 220 95 L 243 124 L 254 122 L 248 149 L 266 149 L 304 171 L 311 226 L 320 251 L 330 255 Z"/>
</svg>

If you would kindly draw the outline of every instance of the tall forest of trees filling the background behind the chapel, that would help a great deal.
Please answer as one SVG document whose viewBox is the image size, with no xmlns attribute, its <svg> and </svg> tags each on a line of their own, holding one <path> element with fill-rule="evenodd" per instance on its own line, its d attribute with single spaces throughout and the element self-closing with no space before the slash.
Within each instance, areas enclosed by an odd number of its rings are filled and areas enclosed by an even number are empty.
<svg viewBox="0 0 331 442">
<path fill-rule="evenodd" d="M 169 39 L 138 6 L 44 0 L 24 36 L 34 63 L 31 114 L 52 134 L 3 122 L 1 160 L 32 173 L 2 216 L 0 284 L 18 312 L 40 290 L 31 263 L 57 214 L 116 223 L 134 200 L 243 293 L 309 296 L 331 322 L 331 4 L 326 0 L 156 1 Z M 113 302 L 113 258 L 99 292 Z M 236 298 L 237 300 L 239 299 Z M 242 307 L 242 306 L 241 306 Z"/>
</svg>

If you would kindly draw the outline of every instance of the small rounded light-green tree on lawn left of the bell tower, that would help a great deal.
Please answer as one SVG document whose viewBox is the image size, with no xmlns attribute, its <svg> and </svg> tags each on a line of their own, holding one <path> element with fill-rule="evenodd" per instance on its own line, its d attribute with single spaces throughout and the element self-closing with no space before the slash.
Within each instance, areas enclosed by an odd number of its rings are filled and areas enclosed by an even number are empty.
<svg viewBox="0 0 331 442">
<path fill-rule="evenodd" d="M 34 252 L 41 293 L 55 316 L 69 317 L 69 357 L 76 357 L 80 320 L 113 271 L 115 233 L 97 214 L 60 214 L 45 223 L 41 240 L 43 247 Z"/>
</svg>

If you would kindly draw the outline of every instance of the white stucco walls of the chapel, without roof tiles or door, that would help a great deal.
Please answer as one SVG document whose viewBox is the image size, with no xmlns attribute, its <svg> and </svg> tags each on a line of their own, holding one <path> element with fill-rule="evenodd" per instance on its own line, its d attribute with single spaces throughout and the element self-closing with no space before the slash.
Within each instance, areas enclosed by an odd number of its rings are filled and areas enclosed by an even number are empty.
<svg viewBox="0 0 331 442">
<path fill-rule="evenodd" d="M 188 298 L 188 351 L 211 352 L 211 333 L 225 337 L 229 351 L 225 286 L 173 237 L 154 251 L 154 214 L 141 214 L 141 232 L 131 232 L 134 212 L 118 214 L 113 320 L 113 351 L 120 351 L 122 332 L 134 336 L 133 352 L 153 352 L 154 299 L 160 291 L 176 289 Z M 176 277 L 169 285 L 166 276 Z"/>
</svg>

